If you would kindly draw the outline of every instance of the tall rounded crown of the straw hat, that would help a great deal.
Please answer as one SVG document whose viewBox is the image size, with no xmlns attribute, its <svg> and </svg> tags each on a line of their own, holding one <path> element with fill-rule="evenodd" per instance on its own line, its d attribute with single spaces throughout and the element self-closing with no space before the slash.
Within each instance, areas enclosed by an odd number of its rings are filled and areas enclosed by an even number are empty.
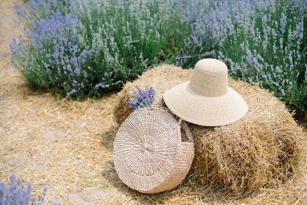
<svg viewBox="0 0 307 205">
<path fill-rule="evenodd" d="M 228 92 L 227 65 L 220 60 L 199 60 L 194 68 L 188 89 L 200 96 L 219 97 Z"/>
</svg>

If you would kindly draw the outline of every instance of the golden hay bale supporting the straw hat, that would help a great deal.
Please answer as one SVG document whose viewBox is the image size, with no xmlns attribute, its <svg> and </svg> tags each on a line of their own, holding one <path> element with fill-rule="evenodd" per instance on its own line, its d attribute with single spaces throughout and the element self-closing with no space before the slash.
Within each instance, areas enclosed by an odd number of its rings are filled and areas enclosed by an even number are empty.
<svg viewBox="0 0 307 205">
<path fill-rule="evenodd" d="M 114 118 L 119 125 L 133 109 L 129 93 L 136 85 L 153 86 L 156 97 L 189 80 L 192 70 L 159 66 L 128 82 L 118 93 Z M 204 127 L 189 123 L 195 141 L 195 159 L 189 179 L 235 196 L 265 186 L 300 178 L 305 168 L 306 139 L 284 103 L 267 90 L 229 78 L 249 106 L 247 114 L 227 126 Z"/>
</svg>

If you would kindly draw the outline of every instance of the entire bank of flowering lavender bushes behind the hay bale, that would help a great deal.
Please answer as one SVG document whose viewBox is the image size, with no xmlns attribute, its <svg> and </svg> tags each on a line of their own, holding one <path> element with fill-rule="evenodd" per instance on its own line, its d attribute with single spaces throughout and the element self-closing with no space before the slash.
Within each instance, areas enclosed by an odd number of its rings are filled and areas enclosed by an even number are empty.
<svg viewBox="0 0 307 205">
<path fill-rule="evenodd" d="M 26 40 L 12 42 L 12 63 L 64 100 L 118 90 L 159 63 L 212 57 L 307 112 L 306 0 L 27 0 L 15 11 Z"/>
</svg>

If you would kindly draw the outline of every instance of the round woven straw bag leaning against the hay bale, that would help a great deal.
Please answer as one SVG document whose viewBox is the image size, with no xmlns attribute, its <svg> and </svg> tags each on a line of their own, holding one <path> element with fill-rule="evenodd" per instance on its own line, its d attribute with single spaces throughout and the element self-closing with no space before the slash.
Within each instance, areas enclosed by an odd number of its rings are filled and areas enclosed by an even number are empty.
<svg viewBox="0 0 307 205">
<path fill-rule="evenodd" d="M 193 136 L 187 124 L 166 107 L 135 110 L 114 140 L 114 165 L 131 189 L 158 193 L 179 185 L 194 157 Z"/>
</svg>

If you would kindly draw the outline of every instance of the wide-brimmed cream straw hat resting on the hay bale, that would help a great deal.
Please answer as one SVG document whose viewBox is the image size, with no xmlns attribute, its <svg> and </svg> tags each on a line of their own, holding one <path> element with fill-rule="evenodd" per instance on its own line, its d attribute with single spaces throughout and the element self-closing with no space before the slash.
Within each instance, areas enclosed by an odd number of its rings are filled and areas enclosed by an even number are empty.
<svg viewBox="0 0 307 205">
<path fill-rule="evenodd" d="M 201 126 L 223 126 L 241 119 L 248 106 L 228 87 L 228 69 L 217 59 L 198 61 L 191 80 L 166 91 L 163 99 L 179 118 Z"/>
</svg>

